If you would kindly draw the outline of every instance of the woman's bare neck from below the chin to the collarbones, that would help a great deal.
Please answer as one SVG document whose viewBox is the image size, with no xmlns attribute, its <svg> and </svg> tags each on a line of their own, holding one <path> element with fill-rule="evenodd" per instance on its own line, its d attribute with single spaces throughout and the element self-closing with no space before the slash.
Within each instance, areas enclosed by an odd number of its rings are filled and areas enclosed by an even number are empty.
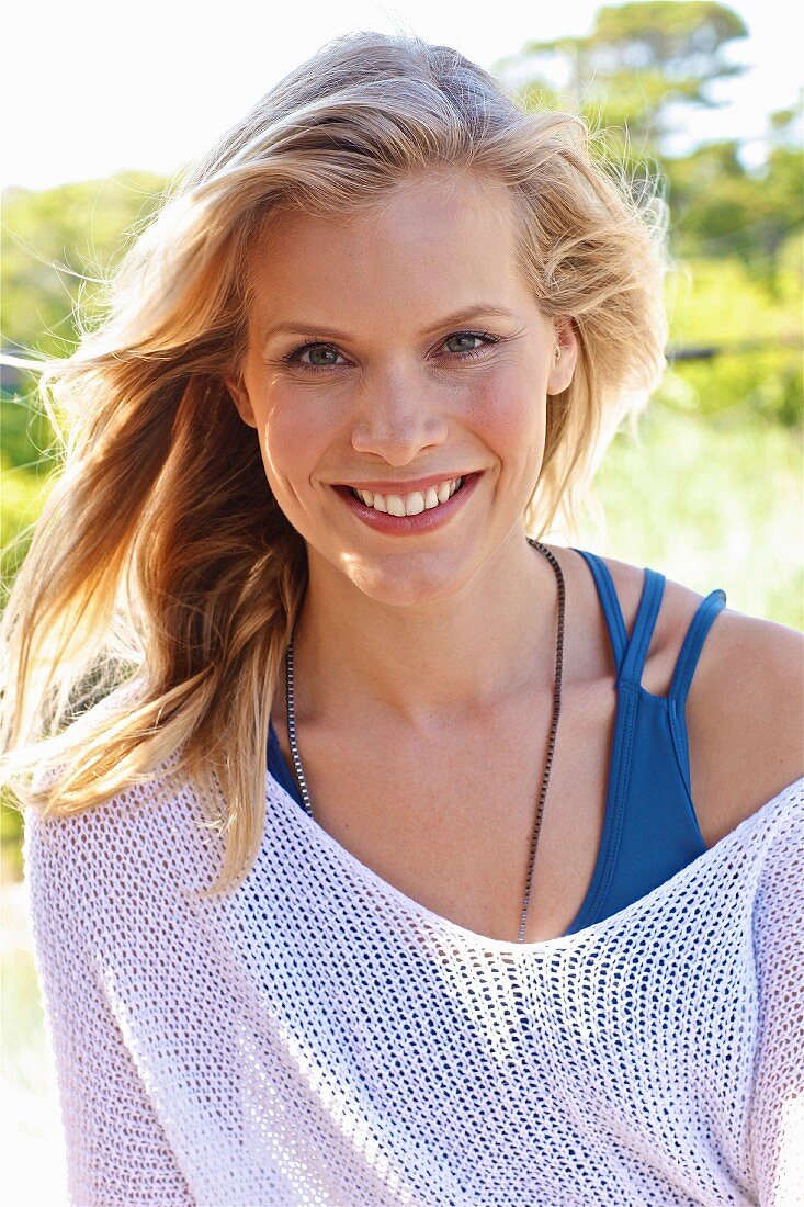
<svg viewBox="0 0 804 1207">
<path fill-rule="evenodd" d="M 297 716 L 379 710 L 418 728 L 553 688 L 555 572 L 518 532 L 436 602 L 378 601 L 314 550 L 309 568 L 293 639 Z"/>
</svg>

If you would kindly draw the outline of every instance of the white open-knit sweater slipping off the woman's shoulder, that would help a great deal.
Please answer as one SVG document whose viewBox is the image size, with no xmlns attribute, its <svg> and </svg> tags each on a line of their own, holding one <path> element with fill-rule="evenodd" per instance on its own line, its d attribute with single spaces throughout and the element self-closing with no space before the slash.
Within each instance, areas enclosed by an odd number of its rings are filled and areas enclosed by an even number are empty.
<svg viewBox="0 0 804 1207">
<path fill-rule="evenodd" d="M 380 879 L 267 776 L 227 900 L 197 789 L 29 811 L 71 1200 L 804 1203 L 804 780 L 653 892 L 519 945 Z"/>
</svg>

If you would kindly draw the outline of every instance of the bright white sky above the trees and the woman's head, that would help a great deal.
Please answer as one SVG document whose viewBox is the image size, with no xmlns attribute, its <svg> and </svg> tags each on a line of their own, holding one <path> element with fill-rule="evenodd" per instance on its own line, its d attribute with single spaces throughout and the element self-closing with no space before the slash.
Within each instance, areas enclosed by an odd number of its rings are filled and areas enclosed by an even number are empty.
<svg viewBox="0 0 804 1207">
<path fill-rule="evenodd" d="M 599 7 L 590 0 L 301 0 L 278 17 L 275 5 L 255 0 L 13 5 L 4 19 L 0 186 L 177 171 L 291 68 L 349 29 L 402 28 L 488 68 L 529 40 L 587 34 Z M 794 104 L 802 83 L 797 6 L 739 0 L 730 7 L 751 36 L 729 59 L 750 70 L 713 91 L 728 105 L 697 118 L 699 141 L 761 139 L 765 115 Z M 759 142 L 753 151 L 761 158 Z"/>
</svg>

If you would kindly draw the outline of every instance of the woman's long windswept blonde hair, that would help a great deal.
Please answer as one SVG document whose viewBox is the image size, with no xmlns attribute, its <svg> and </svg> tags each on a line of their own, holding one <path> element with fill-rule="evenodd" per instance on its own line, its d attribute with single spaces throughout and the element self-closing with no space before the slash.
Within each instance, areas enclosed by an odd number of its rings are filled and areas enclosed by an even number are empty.
<svg viewBox="0 0 804 1207">
<path fill-rule="evenodd" d="M 507 186 L 522 272 L 546 316 L 573 320 L 577 367 L 548 400 L 525 517 L 531 536 L 572 524 L 664 368 L 662 203 L 595 157 L 581 117 L 525 111 L 415 35 L 350 33 L 281 80 L 186 175 L 127 253 L 103 323 L 45 374 L 63 472 L 4 618 L 2 782 L 69 816 L 180 751 L 174 774 L 217 798 L 206 824 L 227 838 L 202 896 L 254 865 L 307 585 L 304 542 L 223 384 L 245 346 L 249 249 L 280 208 L 355 211 L 436 165 Z"/>
</svg>

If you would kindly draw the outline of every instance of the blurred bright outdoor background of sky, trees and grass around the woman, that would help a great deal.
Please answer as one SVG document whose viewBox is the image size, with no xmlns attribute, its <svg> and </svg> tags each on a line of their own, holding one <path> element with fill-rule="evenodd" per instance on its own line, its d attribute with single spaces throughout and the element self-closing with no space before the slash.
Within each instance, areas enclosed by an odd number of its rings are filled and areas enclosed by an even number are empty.
<svg viewBox="0 0 804 1207">
<path fill-rule="evenodd" d="M 448 43 L 529 106 L 579 110 L 598 153 L 660 175 L 670 208 L 669 368 L 599 472 L 573 543 L 649 565 L 728 606 L 802 613 L 802 18 L 774 0 L 496 5 L 228 0 L 14 6 L 5 18 L 2 600 L 48 479 L 52 432 L 27 362 L 63 356 L 135 227 L 276 80 L 349 29 Z M 33 23 L 35 22 L 35 24 Z M 23 53 L 23 51 L 25 53 Z M 560 535 L 557 537 L 560 542 Z M 6 1201 L 66 1202 L 30 952 L 21 818 L 2 807 Z"/>
</svg>

